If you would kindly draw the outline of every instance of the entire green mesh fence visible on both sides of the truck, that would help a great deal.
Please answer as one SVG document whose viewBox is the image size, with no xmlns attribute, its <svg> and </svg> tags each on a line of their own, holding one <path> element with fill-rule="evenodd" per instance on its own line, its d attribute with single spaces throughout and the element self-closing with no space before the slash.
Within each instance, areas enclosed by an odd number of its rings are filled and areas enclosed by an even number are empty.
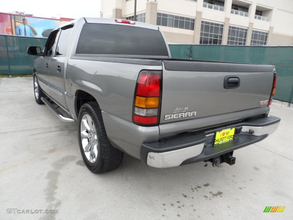
<svg viewBox="0 0 293 220">
<path fill-rule="evenodd" d="M 47 38 L 0 35 L 0 75 L 33 73 L 36 56 L 26 53 L 28 46 L 44 48 Z M 275 99 L 293 103 L 293 47 L 169 45 L 171 56 L 179 59 L 212 60 L 275 65 Z"/>
</svg>

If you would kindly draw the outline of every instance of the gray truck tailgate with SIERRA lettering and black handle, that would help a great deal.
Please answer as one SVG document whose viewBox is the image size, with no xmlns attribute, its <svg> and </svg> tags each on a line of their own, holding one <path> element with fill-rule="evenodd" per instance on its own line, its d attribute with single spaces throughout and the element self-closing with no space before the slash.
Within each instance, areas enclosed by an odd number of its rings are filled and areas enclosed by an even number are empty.
<svg viewBox="0 0 293 220">
<path fill-rule="evenodd" d="M 163 61 L 160 124 L 265 108 L 273 71 L 271 65 Z"/>
</svg>

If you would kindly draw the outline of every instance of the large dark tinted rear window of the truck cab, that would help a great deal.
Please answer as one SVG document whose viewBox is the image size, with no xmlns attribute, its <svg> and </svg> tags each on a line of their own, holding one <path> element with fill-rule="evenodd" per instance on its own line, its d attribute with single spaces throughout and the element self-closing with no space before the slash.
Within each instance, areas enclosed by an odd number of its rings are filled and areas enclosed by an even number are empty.
<svg viewBox="0 0 293 220">
<path fill-rule="evenodd" d="M 77 54 L 168 56 L 160 31 L 113 24 L 84 24 Z"/>
</svg>

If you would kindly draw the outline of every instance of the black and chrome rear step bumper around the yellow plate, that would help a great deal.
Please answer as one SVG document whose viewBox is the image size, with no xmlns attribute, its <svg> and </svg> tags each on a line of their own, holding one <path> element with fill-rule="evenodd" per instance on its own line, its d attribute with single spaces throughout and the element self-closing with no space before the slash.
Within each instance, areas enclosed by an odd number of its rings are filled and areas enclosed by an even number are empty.
<svg viewBox="0 0 293 220">
<path fill-rule="evenodd" d="M 141 159 L 148 166 L 158 168 L 208 160 L 263 140 L 277 129 L 279 123 L 280 118 L 270 116 L 249 119 L 213 130 L 184 133 L 157 143 L 143 144 Z M 239 128 L 234 140 L 214 146 L 214 133 L 231 127 L 236 127 L 236 130 Z"/>
</svg>

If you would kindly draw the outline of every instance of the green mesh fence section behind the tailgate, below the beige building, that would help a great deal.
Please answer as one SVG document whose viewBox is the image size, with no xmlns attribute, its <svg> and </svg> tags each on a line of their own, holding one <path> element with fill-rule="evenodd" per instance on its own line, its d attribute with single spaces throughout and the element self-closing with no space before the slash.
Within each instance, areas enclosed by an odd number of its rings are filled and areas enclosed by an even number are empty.
<svg viewBox="0 0 293 220">
<path fill-rule="evenodd" d="M 172 58 L 275 65 L 274 99 L 293 103 L 293 47 L 169 45 Z"/>
</svg>

